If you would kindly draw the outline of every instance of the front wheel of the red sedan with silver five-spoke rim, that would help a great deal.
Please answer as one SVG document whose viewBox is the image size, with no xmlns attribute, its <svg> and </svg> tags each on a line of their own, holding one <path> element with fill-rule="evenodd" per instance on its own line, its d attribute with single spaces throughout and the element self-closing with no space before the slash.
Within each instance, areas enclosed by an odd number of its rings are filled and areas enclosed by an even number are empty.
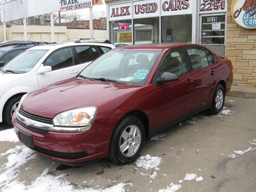
<svg viewBox="0 0 256 192">
<path fill-rule="evenodd" d="M 112 134 L 108 158 L 117 164 L 127 164 L 140 155 L 145 140 L 145 129 L 136 116 L 126 116 L 114 129 Z"/>
</svg>

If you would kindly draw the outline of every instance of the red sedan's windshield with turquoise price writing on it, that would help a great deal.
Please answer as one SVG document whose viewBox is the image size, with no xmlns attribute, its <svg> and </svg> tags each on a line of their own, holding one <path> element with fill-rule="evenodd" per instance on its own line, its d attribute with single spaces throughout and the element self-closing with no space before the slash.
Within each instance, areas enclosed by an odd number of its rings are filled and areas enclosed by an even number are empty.
<svg viewBox="0 0 256 192">
<path fill-rule="evenodd" d="M 132 85 L 144 85 L 160 51 L 109 51 L 93 61 L 80 77 Z"/>
</svg>

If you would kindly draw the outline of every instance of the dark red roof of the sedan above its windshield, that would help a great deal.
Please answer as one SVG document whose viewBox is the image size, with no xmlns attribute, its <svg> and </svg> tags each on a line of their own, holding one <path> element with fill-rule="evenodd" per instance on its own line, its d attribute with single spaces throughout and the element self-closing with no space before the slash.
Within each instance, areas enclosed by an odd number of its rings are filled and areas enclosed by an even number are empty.
<svg viewBox="0 0 256 192">
<path fill-rule="evenodd" d="M 198 44 L 188 44 L 188 43 L 153 43 L 153 44 L 137 44 L 137 45 L 127 45 L 124 47 L 118 47 L 115 50 L 138 50 L 138 51 L 163 51 L 166 48 L 178 48 L 184 46 L 201 46 Z"/>
</svg>

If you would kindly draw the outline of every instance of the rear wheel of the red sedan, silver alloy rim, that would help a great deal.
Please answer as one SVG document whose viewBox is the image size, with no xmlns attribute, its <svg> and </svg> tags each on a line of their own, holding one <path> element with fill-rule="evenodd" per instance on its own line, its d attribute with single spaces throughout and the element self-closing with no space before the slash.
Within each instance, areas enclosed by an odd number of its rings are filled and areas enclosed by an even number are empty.
<svg viewBox="0 0 256 192">
<path fill-rule="evenodd" d="M 222 110 L 225 101 L 225 89 L 221 84 L 217 84 L 212 97 L 212 106 L 208 109 L 211 114 L 218 114 Z"/>
</svg>

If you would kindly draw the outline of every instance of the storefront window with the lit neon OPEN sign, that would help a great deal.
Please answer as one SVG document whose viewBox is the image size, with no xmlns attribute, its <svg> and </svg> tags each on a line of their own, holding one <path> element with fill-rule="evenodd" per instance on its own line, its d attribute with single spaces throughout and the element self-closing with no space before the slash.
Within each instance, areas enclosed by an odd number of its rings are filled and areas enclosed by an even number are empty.
<svg viewBox="0 0 256 192">
<path fill-rule="evenodd" d="M 129 30 L 119 30 L 118 24 L 128 24 Z M 112 44 L 132 44 L 132 20 L 120 20 L 109 22 L 109 37 Z M 123 45 L 123 46 L 124 46 Z"/>
</svg>

